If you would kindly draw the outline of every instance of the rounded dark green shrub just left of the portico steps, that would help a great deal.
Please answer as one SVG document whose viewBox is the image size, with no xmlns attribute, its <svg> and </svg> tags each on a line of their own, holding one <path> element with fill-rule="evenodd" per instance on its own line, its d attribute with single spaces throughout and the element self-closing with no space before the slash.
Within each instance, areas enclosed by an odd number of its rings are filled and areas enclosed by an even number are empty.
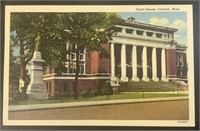
<svg viewBox="0 0 200 131">
<path fill-rule="evenodd" d="M 113 94 L 113 90 L 112 90 L 110 81 L 104 82 L 104 84 L 101 88 L 101 95 L 112 95 L 112 94 Z"/>
</svg>

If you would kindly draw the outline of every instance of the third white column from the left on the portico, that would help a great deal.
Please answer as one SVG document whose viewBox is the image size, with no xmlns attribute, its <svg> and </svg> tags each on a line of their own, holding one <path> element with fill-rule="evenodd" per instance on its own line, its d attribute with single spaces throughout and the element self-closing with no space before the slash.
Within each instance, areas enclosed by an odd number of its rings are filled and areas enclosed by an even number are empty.
<svg viewBox="0 0 200 131">
<path fill-rule="evenodd" d="M 132 48 L 132 80 L 139 81 L 139 78 L 137 77 L 137 49 L 134 45 Z"/>
</svg>

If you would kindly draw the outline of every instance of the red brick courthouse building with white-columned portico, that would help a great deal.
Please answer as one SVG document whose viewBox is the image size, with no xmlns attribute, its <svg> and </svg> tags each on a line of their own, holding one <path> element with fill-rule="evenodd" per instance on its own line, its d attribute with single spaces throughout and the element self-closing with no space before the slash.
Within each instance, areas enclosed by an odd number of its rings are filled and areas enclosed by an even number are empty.
<svg viewBox="0 0 200 131">
<path fill-rule="evenodd" d="M 113 86 L 128 81 L 187 81 L 187 46 L 174 40 L 177 29 L 137 22 L 133 17 L 115 26 L 116 34 L 110 43 L 102 44 L 109 58 L 101 57 L 97 51 L 80 52 L 80 74 L 78 91 L 99 90 L 105 81 Z M 69 43 L 71 50 L 65 62 L 66 70 L 56 74 L 51 67 L 44 72 L 44 82 L 50 96 L 55 93 L 73 92 L 76 72 L 76 46 Z"/>
</svg>

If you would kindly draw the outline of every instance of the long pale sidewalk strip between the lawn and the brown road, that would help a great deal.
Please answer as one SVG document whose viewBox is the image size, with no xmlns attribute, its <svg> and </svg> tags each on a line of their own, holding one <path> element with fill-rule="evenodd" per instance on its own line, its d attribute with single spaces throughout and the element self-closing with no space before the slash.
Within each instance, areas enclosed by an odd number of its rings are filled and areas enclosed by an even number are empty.
<svg viewBox="0 0 200 131">
<path fill-rule="evenodd" d="M 55 104 L 34 104 L 34 105 L 15 105 L 9 106 L 9 111 L 37 110 L 37 109 L 53 109 L 53 108 L 70 108 L 84 107 L 97 105 L 113 105 L 127 103 L 144 103 L 144 102 L 159 102 L 173 100 L 188 100 L 188 96 L 165 97 L 165 98 L 145 98 L 145 99 L 123 99 L 123 100 L 105 100 L 105 101 L 87 101 L 87 102 L 70 102 L 70 103 L 55 103 Z"/>
</svg>

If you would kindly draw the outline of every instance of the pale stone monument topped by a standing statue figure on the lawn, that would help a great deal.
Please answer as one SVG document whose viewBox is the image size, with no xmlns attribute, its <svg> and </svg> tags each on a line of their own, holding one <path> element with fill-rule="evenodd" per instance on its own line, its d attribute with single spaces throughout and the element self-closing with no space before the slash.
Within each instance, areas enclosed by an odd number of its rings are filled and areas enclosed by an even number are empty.
<svg viewBox="0 0 200 131">
<path fill-rule="evenodd" d="M 41 57 L 39 46 L 41 43 L 41 37 L 38 33 L 35 38 L 35 51 L 31 64 L 31 81 L 27 88 L 27 94 L 29 99 L 48 99 L 48 93 L 46 85 L 43 82 L 43 64 L 45 61 Z"/>
</svg>

